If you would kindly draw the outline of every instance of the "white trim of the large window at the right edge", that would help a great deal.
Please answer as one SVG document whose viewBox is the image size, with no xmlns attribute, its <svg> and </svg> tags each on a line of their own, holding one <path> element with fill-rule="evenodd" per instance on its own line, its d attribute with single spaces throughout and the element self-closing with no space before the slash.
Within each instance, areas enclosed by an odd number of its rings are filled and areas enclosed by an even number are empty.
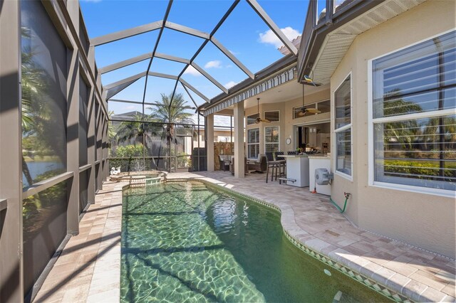
<svg viewBox="0 0 456 303">
<path fill-rule="evenodd" d="M 368 186 L 373 186 L 373 187 L 378 187 L 378 188 L 388 188 L 388 189 L 393 189 L 393 190 L 398 190 L 398 191 L 408 191 L 408 192 L 413 192 L 413 193 L 424 193 L 424 194 L 430 194 L 433 196 L 444 196 L 444 197 L 450 197 L 450 198 L 456 198 L 456 191 L 450 191 L 446 189 L 440 189 L 440 188 L 428 188 L 428 187 L 422 187 L 422 186 L 411 186 L 411 185 L 405 185 L 405 184 L 394 184 L 394 183 L 388 183 L 388 182 L 380 182 L 380 181 L 375 181 L 374 179 L 374 167 L 375 167 L 375 157 L 374 157 L 374 138 L 373 138 L 373 126 L 374 123 L 382 123 L 382 122 L 394 122 L 394 121 L 400 121 L 400 120 L 405 120 L 405 119 L 420 119 L 423 117 L 437 117 L 437 116 L 445 116 L 445 115 L 454 115 L 455 110 L 454 109 L 448 109 L 448 110 L 436 110 L 432 112 L 418 112 L 416 114 L 408 114 L 408 115 L 398 115 L 395 117 L 382 117 L 382 118 L 376 118 L 373 119 L 373 61 L 377 60 L 379 58 L 383 58 L 387 55 L 391 55 L 393 53 L 398 53 L 401 50 L 405 50 L 406 48 L 410 48 L 412 46 L 418 45 L 420 43 L 423 43 L 425 41 L 429 41 L 432 38 L 436 38 L 442 35 L 445 35 L 445 33 L 450 33 L 452 31 L 455 31 L 454 28 L 444 31 L 442 33 L 438 33 L 435 36 L 431 36 L 428 38 L 425 38 L 421 41 L 411 43 L 407 46 L 403 46 L 402 48 L 397 48 L 395 50 L 392 50 L 388 53 L 384 53 L 383 55 L 378 55 L 375 58 L 371 58 L 367 61 L 368 64 Z"/>
</svg>

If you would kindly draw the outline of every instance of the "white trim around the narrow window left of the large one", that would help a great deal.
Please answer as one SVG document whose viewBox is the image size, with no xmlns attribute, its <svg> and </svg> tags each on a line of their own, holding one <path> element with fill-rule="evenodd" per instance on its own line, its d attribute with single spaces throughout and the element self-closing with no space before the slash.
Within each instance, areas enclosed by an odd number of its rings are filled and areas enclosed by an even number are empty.
<svg viewBox="0 0 456 303">
<path fill-rule="evenodd" d="M 336 91 L 339 89 L 339 87 L 341 87 L 341 85 L 343 84 L 343 82 L 348 78 L 350 77 L 350 123 L 349 124 L 346 124 L 346 125 L 343 125 L 343 127 L 339 127 L 338 129 L 336 129 Z M 339 83 L 339 85 L 336 87 L 336 89 L 334 90 L 333 92 L 333 104 L 334 104 L 334 107 L 333 107 L 333 111 L 332 111 L 332 119 L 334 121 L 334 130 L 333 130 L 333 142 L 334 142 L 334 161 L 333 161 L 333 171 L 334 171 L 334 174 L 336 174 L 337 176 L 341 176 L 342 178 L 344 179 L 347 179 L 348 181 L 352 181 L 353 182 L 353 159 L 354 159 L 354 156 L 353 156 L 353 76 L 352 76 L 352 72 L 350 71 L 350 73 L 348 73 L 348 75 L 346 75 L 345 78 L 343 78 L 342 82 Z M 338 132 L 342 132 L 346 129 L 349 129 L 351 128 L 351 132 L 350 132 L 350 149 L 351 149 L 351 176 L 348 175 L 348 174 L 344 174 L 343 172 L 341 171 L 338 171 L 337 170 L 337 134 Z"/>
</svg>

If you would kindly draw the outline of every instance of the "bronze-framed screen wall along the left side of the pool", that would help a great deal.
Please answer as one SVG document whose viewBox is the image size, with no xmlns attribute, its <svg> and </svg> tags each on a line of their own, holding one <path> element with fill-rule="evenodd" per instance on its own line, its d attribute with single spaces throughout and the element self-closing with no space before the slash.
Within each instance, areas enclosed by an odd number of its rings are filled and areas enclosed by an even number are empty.
<svg viewBox="0 0 456 303">
<path fill-rule="evenodd" d="M 33 15 L 33 24 L 39 26 L 30 26 L 32 31 L 24 33 L 23 22 L 28 17 L 24 18 L 22 9 L 29 4 L 38 6 L 40 14 L 33 9 L 28 9 L 26 14 L 32 10 L 33 14 L 27 16 Z M 108 176 L 108 110 L 78 1 L 0 1 L 0 10 L 0 301 L 23 302 L 33 300 L 56 260 L 54 253 L 66 245 L 71 235 L 78 234 L 79 220 L 95 202 L 95 193 Z M 31 184 L 26 184 L 22 176 L 24 132 L 21 122 L 24 119 L 26 69 L 22 40 L 31 39 L 28 33 L 38 31 L 38 28 L 41 28 L 40 33 L 46 28 L 53 34 L 49 38 L 50 33 L 42 36 L 33 33 L 37 41 L 48 38 L 40 41 L 42 49 L 48 51 L 38 54 L 49 58 L 52 52 L 58 52 L 65 58 L 65 63 L 58 68 L 55 58 L 44 63 L 44 68 L 55 68 L 51 76 L 61 73 L 63 79 L 60 115 L 46 119 L 51 129 L 63 133 L 61 145 L 65 151 L 62 157 L 65 165 L 59 172 L 43 174 L 40 180 L 33 179 Z M 35 55 L 30 54 L 31 57 Z M 86 85 L 86 93 L 81 94 L 81 85 Z M 51 97 L 41 95 L 36 100 L 50 104 L 53 102 Z M 81 135 L 80 105 L 83 100 L 89 110 L 83 117 L 86 127 Z M 39 111 L 35 115 L 39 117 Z M 61 123 L 57 124 L 54 118 L 60 119 Z M 86 145 L 80 144 L 81 140 Z M 81 156 L 82 146 L 85 155 Z M 38 223 L 33 233 L 27 230 L 33 225 L 30 217 L 24 215 L 24 208 L 32 199 L 36 202 L 36 216 L 41 216 L 41 220 L 34 221 Z M 51 205 L 40 206 L 40 203 Z M 41 215 L 45 211 L 47 214 Z M 33 240 L 26 243 L 30 235 Z M 38 243 L 38 247 L 33 243 Z"/>
</svg>

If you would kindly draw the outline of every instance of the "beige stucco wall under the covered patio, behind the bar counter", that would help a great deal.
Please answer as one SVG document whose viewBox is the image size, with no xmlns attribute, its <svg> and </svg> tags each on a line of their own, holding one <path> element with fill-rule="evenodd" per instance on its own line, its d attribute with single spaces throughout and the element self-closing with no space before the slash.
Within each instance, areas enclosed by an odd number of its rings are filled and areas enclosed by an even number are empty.
<svg viewBox="0 0 456 303">
<path fill-rule="evenodd" d="M 296 85 L 299 85 L 296 83 Z M 329 85 L 319 92 L 315 92 L 314 94 L 306 95 L 305 105 L 324 101 L 329 99 Z M 311 123 L 311 122 L 321 122 L 327 121 L 330 118 L 330 113 L 326 112 L 319 115 L 309 115 L 306 117 L 299 117 L 297 119 L 293 119 L 293 108 L 299 107 L 302 105 L 302 97 L 296 98 L 294 100 L 287 100 L 285 102 L 281 102 L 279 99 L 277 102 L 274 103 L 264 103 L 259 105 L 259 112 L 260 117 L 264 118 L 264 112 L 271 111 L 271 110 L 279 110 L 280 111 L 280 121 L 279 122 L 271 122 L 271 123 L 259 123 L 259 124 L 252 124 L 246 125 L 246 134 L 247 129 L 255 129 L 259 128 L 259 135 L 260 135 L 260 154 L 264 154 L 264 127 L 269 126 L 279 126 L 280 135 L 279 135 L 279 149 L 281 151 L 293 151 L 296 149 L 296 138 L 294 137 L 294 125 L 296 124 L 304 124 L 304 123 Z M 258 107 L 255 105 L 254 107 L 248 107 L 245 109 L 245 117 L 249 115 L 254 115 L 258 112 Z M 247 124 L 247 122 L 246 122 Z M 291 144 L 286 145 L 285 140 L 286 138 L 291 138 Z M 247 142 L 246 142 L 247 144 Z M 247 145 L 246 145 L 246 153 L 247 153 Z"/>
</svg>

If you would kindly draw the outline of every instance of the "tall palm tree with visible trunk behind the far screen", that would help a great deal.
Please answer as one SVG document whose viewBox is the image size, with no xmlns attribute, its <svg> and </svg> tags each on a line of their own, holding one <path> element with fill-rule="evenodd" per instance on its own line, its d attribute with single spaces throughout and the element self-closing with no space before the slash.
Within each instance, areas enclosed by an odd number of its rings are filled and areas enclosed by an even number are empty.
<svg viewBox="0 0 456 303">
<path fill-rule="evenodd" d="M 147 110 L 151 110 L 150 118 L 162 122 L 165 128 L 165 134 L 167 142 L 167 156 L 170 159 L 168 163 L 168 169 L 171 171 L 171 142 L 177 143 L 175 138 L 175 124 L 193 124 L 192 114 L 185 112 L 185 100 L 182 94 L 176 94 L 174 97 L 172 93 L 170 95 L 161 94 L 162 100 L 156 101 L 158 105 L 155 107 L 147 107 Z M 161 150 L 161 146 L 160 146 Z M 160 156 L 160 151 L 159 151 Z"/>
</svg>

